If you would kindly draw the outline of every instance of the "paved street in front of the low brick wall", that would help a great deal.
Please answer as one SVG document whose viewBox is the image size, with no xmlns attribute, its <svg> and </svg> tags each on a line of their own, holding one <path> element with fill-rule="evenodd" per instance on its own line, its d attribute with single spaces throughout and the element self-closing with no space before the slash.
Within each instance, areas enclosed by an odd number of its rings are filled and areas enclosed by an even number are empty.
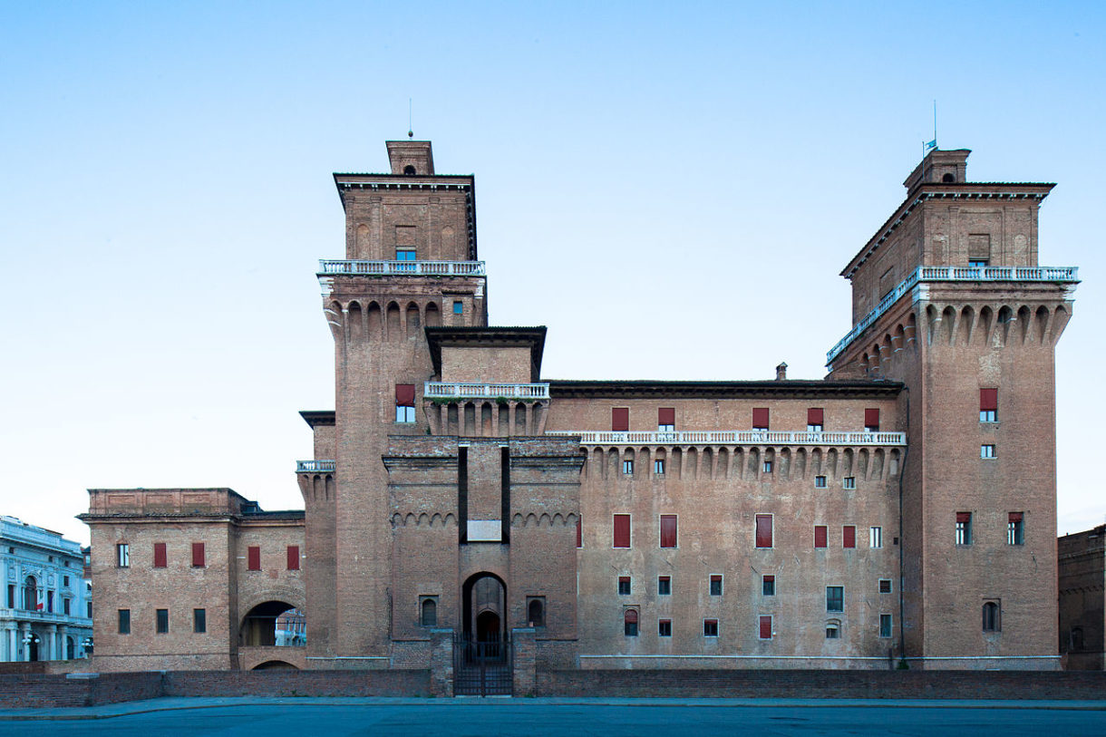
<svg viewBox="0 0 1106 737">
<path fill-rule="evenodd" d="M 605 737 L 657 734 L 677 729 L 679 737 L 698 735 L 1103 735 L 1106 704 L 1097 709 L 1073 709 L 1079 703 L 1052 703 L 1062 708 L 1035 708 L 1027 703 L 1000 703 L 993 707 L 973 702 L 963 706 L 873 705 L 807 706 L 797 703 L 738 705 L 724 700 L 632 703 L 556 703 L 564 699 L 442 699 L 405 703 L 356 703 L 354 699 L 271 699 L 259 703 L 205 708 L 180 708 L 182 704 L 218 704 L 227 699 L 155 699 L 124 707 L 129 714 L 109 716 L 109 710 L 69 709 L 64 716 L 97 717 L 63 720 L 0 720 L 0 736 L 100 735 L 152 737 L 199 735 L 365 735 L 372 737 L 468 737 L 519 735 L 603 735 Z M 883 703 L 886 704 L 886 703 Z M 1083 706 L 1092 706 L 1083 704 Z M 136 713 L 140 708 L 166 708 Z M 119 709 L 119 707 L 116 707 Z"/>
</svg>

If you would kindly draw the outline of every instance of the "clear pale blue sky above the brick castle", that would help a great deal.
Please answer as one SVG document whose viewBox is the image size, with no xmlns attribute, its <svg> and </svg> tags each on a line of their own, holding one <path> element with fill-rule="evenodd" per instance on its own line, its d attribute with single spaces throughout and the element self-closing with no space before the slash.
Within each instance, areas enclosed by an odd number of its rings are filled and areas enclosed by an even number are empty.
<svg viewBox="0 0 1106 737">
<path fill-rule="evenodd" d="M 0 9 L 0 511 L 86 540 L 88 487 L 301 505 L 332 408 L 332 172 L 386 138 L 477 175 L 491 320 L 554 378 L 821 377 L 841 268 L 932 137 L 1056 181 L 1060 531 L 1106 518 L 1097 2 L 13 3 Z M 1088 377 L 1091 376 L 1091 377 Z"/>
</svg>

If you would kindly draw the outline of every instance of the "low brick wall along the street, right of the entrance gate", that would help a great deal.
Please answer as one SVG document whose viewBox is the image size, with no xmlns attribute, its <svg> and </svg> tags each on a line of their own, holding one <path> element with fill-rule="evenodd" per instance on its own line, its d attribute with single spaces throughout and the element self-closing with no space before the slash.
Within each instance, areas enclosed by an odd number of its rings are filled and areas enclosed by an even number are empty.
<svg viewBox="0 0 1106 737">
<path fill-rule="evenodd" d="M 1106 698 L 1106 673 L 1063 671 L 539 671 L 539 696 Z"/>
</svg>

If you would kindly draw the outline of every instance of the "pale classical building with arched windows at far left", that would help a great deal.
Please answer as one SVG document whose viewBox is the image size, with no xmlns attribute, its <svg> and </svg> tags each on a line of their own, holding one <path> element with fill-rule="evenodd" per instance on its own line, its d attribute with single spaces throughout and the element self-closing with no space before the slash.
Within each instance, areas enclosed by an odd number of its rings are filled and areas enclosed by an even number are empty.
<svg viewBox="0 0 1106 737">
<path fill-rule="evenodd" d="M 0 517 L 0 661 L 72 661 L 92 652 L 92 588 L 81 546 Z"/>
</svg>

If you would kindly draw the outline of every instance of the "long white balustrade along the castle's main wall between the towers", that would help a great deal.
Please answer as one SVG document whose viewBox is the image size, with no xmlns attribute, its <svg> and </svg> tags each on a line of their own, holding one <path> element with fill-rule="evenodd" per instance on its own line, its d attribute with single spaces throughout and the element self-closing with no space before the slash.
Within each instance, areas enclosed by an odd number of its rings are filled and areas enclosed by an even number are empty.
<svg viewBox="0 0 1106 737">
<path fill-rule="evenodd" d="M 779 430 L 681 430 L 607 433 L 549 430 L 578 435 L 582 445 L 906 445 L 906 433 L 790 433 Z"/>
</svg>

